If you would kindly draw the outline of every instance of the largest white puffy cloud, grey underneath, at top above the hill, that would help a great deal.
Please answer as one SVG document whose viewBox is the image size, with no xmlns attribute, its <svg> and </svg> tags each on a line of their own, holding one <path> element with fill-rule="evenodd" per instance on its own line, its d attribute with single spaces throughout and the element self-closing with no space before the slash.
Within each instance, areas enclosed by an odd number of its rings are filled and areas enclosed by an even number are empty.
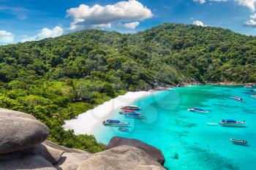
<svg viewBox="0 0 256 170">
<path fill-rule="evenodd" d="M 95 4 L 89 7 L 80 4 L 79 7 L 67 10 L 67 16 L 72 17 L 71 30 L 81 28 L 94 28 L 100 26 L 110 26 L 111 23 L 131 22 L 146 20 L 153 16 L 150 9 L 143 6 L 137 0 L 119 1 L 116 4 L 100 6 Z"/>
</svg>

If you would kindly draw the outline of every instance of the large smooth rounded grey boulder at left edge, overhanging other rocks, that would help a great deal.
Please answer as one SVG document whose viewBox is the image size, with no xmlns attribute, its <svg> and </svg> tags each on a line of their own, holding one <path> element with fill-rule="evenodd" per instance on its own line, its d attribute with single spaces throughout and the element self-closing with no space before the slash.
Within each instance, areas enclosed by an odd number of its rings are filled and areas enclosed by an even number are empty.
<svg viewBox="0 0 256 170">
<path fill-rule="evenodd" d="M 0 154 L 23 150 L 39 144 L 49 134 L 49 129 L 33 116 L 0 109 Z"/>
</svg>

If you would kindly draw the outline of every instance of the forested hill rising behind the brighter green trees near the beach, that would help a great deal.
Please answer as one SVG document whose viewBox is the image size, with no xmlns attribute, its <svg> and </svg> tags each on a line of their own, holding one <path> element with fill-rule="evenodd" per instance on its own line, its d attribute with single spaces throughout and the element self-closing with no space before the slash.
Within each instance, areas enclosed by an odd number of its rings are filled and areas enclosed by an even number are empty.
<svg viewBox="0 0 256 170">
<path fill-rule="evenodd" d="M 156 80 L 255 82 L 256 37 L 222 28 L 162 24 L 138 34 L 89 30 L 0 48 L 3 82 L 32 74 L 98 77 L 138 90 Z M 10 71 L 10 72 L 8 72 Z"/>
</svg>

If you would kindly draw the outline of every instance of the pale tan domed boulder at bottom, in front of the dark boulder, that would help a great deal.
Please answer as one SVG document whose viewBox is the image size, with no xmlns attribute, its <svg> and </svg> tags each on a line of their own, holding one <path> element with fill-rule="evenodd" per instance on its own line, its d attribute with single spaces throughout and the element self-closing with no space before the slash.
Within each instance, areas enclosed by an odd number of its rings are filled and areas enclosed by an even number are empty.
<svg viewBox="0 0 256 170">
<path fill-rule="evenodd" d="M 105 150 L 80 163 L 78 170 L 165 170 L 157 161 L 136 147 L 120 146 Z"/>
</svg>

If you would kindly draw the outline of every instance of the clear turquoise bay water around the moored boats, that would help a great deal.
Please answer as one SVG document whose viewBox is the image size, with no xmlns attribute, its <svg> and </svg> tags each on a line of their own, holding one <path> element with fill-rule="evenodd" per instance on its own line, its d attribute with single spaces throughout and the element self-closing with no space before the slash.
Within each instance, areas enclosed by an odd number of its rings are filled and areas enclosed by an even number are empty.
<svg viewBox="0 0 256 170">
<path fill-rule="evenodd" d="M 165 167 L 177 170 L 256 169 L 256 99 L 246 88 L 192 86 L 162 91 L 134 104 L 143 109 L 144 120 L 113 113 L 113 119 L 129 122 L 128 133 L 114 127 L 98 128 L 95 136 L 107 144 L 113 136 L 140 139 L 162 150 Z M 245 103 L 230 96 L 244 98 Z M 209 110 L 188 112 L 191 107 Z M 246 128 L 206 125 L 221 119 L 246 120 Z M 249 146 L 232 144 L 230 138 L 246 139 Z M 178 155 L 178 158 L 177 158 Z"/>
</svg>

